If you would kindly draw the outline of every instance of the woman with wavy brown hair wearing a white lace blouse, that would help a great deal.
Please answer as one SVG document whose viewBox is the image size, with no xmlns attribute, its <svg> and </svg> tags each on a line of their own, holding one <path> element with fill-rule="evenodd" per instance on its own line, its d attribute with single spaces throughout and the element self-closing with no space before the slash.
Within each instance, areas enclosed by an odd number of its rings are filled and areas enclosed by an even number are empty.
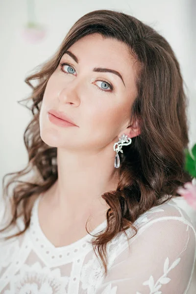
<svg viewBox="0 0 196 294">
<path fill-rule="evenodd" d="M 168 42 L 93 11 L 25 82 L 29 160 L 4 188 L 0 293 L 187 293 L 196 231 L 172 200 L 191 180 L 187 101 Z"/>
</svg>

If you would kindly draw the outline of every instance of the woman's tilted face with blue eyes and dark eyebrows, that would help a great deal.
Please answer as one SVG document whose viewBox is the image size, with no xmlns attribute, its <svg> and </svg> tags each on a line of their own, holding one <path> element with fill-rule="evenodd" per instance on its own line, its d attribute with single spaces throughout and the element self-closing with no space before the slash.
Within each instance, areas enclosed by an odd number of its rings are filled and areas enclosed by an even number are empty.
<svg viewBox="0 0 196 294">
<path fill-rule="evenodd" d="M 72 151 L 113 145 L 119 135 L 128 134 L 123 130 L 129 125 L 137 95 L 134 59 L 125 44 L 98 33 L 83 37 L 68 51 L 71 53 L 62 56 L 46 86 L 40 112 L 41 138 L 49 146 Z M 52 123 L 51 109 L 65 114 L 77 126 Z"/>
</svg>

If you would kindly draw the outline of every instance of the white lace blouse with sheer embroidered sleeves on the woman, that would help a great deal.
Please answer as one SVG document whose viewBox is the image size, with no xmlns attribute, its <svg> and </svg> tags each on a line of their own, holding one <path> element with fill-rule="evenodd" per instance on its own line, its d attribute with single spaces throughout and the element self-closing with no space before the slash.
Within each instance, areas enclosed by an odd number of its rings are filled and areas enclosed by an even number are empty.
<svg viewBox="0 0 196 294">
<path fill-rule="evenodd" d="M 108 274 L 90 244 L 91 235 L 55 247 L 44 235 L 34 202 L 25 234 L 0 239 L 1 294 L 187 294 L 196 260 L 196 230 L 173 200 L 153 207 L 107 245 Z M 18 225 L 23 226 L 19 219 Z M 100 232 L 106 220 L 91 233 Z M 128 229 L 128 236 L 133 230 Z M 3 235 L 4 234 L 4 235 Z M 10 234 L 10 232 L 9 232 Z M 8 234 L 8 235 L 9 235 Z M 193 294 L 193 293 L 191 293 Z"/>
</svg>

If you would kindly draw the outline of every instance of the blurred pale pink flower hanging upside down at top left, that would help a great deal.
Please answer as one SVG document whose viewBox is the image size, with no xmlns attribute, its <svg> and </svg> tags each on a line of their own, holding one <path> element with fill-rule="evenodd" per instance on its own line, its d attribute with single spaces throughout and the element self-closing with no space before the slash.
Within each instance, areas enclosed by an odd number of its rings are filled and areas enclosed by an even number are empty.
<svg viewBox="0 0 196 294">
<path fill-rule="evenodd" d="M 35 20 L 34 0 L 27 0 L 28 22 L 23 29 L 23 37 L 30 43 L 37 43 L 44 39 L 46 29 Z"/>
</svg>

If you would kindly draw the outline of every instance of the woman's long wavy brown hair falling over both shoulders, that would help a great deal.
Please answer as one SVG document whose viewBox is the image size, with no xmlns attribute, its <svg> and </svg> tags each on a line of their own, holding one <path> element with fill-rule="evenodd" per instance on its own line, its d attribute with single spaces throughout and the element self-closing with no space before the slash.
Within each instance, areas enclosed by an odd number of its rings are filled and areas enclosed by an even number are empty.
<svg viewBox="0 0 196 294">
<path fill-rule="evenodd" d="M 28 163 L 24 170 L 3 177 L 3 197 L 9 198 L 8 202 L 11 203 L 11 218 L 1 231 L 15 225 L 22 216 L 24 229 L 6 238 L 23 234 L 29 226 L 35 199 L 58 178 L 57 148 L 49 147 L 40 137 L 40 107 L 49 77 L 64 52 L 77 40 L 93 33 L 125 43 L 136 60 L 137 97 L 132 104 L 130 120 L 132 117 L 137 118 L 141 130 L 141 134 L 132 138 L 132 144 L 123 147 L 123 154 L 120 154 L 117 190 L 102 195 L 110 206 L 107 227 L 102 234 L 94 235 L 92 245 L 106 275 L 107 243 L 121 231 L 126 235 L 126 229 L 130 227 L 136 235 L 137 229 L 133 223 L 141 214 L 174 196 L 180 196 L 176 193 L 177 187 L 192 180 L 184 170 L 184 148 L 189 142 L 186 116 L 188 101 L 183 90 L 179 63 L 163 36 L 123 12 L 104 9 L 82 16 L 68 31 L 56 53 L 35 73 L 25 78 L 27 85 L 32 88 L 30 97 L 21 100 L 31 102 L 31 106 L 27 106 L 27 103 L 25 105 L 32 113 L 32 120 L 24 133 Z M 37 84 L 33 86 L 32 80 L 37 80 Z M 31 175 L 28 175 L 29 172 Z M 12 177 L 5 185 L 7 175 Z M 21 176 L 27 175 L 27 180 L 19 180 Z M 15 184 L 15 187 L 8 197 L 11 184 Z"/>
</svg>

